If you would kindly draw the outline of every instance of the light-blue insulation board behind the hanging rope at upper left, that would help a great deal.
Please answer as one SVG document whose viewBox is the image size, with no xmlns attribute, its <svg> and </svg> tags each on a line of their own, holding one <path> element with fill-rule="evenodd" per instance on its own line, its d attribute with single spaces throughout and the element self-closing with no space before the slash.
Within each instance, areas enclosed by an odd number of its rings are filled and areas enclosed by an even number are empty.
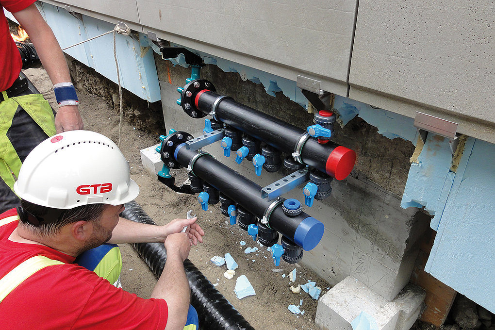
<svg viewBox="0 0 495 330">
<path fill-rule="evenodd" d="M 82 15 L 82 20 L 65 9 L 43 3 L 41 12 L 53 30 L 60 47 L 68 47 L 112 31 L 114 24 Z M 144 36 L 140 34 L 140 39 Z M 115 48 L 119 63 L 120 84 L 129 92 L 150 102 L 160 100 L 160 86 L 150 47 L 142 47 L 139 40 L 117 35 Z M 64 50 L 81 63 L 118 83 L 113 55 L 113 34 L 109 33 L 84 44 Z"/>
</svg>

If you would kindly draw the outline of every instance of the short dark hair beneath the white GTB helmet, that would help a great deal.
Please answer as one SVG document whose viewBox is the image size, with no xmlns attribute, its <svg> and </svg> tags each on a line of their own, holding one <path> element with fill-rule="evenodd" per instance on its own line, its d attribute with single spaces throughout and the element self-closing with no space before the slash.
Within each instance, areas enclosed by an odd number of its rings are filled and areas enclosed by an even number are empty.
<svg viewBox="0 0 495 330">
<path fill-rule="evenodd" d="M 88 204 L 77 206 L 69 210 L 60 210 L 47 206 L 41 206 L 21 200 L 22 208 L 31 213 L 34 217 L 39 217 L 45 221 L 33 224 L 27 217 L 20 217 L 21 222 L 27 226 L 33 233 L 41 236 L 50 236 L 60 232 L 60 229 L 73 222 L 77 221 L 94 221 L 99 219 L 106 204 Z M 56 216 L 58 214 L 58 216 Z M 50 215 L 55 215 L 55 219 L 49 218 Z"/>
</svg>

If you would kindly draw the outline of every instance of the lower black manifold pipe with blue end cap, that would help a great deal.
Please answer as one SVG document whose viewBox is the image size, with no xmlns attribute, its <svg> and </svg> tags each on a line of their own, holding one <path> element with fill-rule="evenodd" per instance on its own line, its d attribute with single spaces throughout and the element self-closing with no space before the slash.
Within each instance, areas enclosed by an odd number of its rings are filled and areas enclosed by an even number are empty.
<svg viewBox="0 0 495 330">
<path fill-rule="evenodd" d="M 215 160 L 208 153 L 199 157 L 198 151 L 186 147 L 185 143 L 176 146 L 174 157 L 182 165 L 190 165 L 192 173 L 208 182 L 225 196 L 241 205 L 258 218 L 263 218 L 272 206 L 273 200 L 261 198 L 261 187 L 236 171 Z M 312 250 L 321 240 L 323 224 L 308 214 L 301 212 L 297 216 L 288 216 L 279 204 L 273 208 L 268 217 L 268 225 L 283 236 L 288 237 L 304 250 Z"/>
</svg>

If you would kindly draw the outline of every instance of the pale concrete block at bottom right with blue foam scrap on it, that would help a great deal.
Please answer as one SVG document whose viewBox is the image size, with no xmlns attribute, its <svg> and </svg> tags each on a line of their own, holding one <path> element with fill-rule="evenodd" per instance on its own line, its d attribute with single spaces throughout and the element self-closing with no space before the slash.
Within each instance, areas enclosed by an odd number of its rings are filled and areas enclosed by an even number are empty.
<svg viewBox="0 0 495 330">
<path fill-rule="evenodd" d="M 409 330 L 421 311 L 424 297 L 421 288 L 408 284 L 389 302 L 348 276 L 320 298 L 315 324 L 322 330 L 351 330 L 352 321 L 365 312 L 380 330 Z"/>
</svg>

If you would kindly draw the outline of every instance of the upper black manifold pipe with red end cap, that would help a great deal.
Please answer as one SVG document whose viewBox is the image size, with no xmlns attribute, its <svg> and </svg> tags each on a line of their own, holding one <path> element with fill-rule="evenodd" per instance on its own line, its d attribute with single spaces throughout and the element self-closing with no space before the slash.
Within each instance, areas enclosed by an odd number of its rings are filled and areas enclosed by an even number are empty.
<svg viewBox="0 0 495 330">
<path fill-rule="evenodd" d="M 195 96 L 195 105 L 198 111 L 204 114 L 215 110 L 216 119 L 219 121 L 290 155 L 297 149 L 297 144 L 301 144 L 301 161 L 337 180 L 345 179 L 354 167 L 356 154 L 353 150 L 332 141 L 322 144 L 313 138 L 301 143 L 306 134 L 303 129 L 236 102 L 230 97 L 201 90 Z"/>
</svg>

